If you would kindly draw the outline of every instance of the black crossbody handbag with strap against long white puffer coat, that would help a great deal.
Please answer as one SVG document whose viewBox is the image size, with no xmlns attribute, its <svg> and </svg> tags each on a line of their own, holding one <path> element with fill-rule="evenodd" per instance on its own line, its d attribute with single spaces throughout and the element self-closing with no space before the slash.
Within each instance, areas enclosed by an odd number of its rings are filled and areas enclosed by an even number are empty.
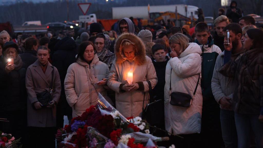
<svg viewBox="0 0 263 148">
<path fill-rule="evenodd" d="M 180 107 L 189 107 L 191 105 L 192 99 L 195 97 L 195 93 L 198 87 L 199 80 L 200 80 L 200 74 L 198 75 L 198 81 L 197 81 L 193 96 L 190 96 L 188 93 L 171 92 L 171 77 L 170 77 L 170 92 L 169 92 L 170 97 L 171 97 L 170 104 L 174 106 L 180 106 Z"/>
</svg>

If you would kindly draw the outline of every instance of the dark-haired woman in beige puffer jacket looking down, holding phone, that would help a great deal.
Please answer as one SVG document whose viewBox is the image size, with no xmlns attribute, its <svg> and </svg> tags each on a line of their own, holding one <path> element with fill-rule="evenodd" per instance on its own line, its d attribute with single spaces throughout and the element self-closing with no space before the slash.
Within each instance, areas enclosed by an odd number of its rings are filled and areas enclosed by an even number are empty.
<svg viewBox="0 0 263 148">
<path fill-rule="evenodd" d="M 81 116 L 87 108 L 98 103 L 98 92 L 107 96 L 104 85 L 108 81 L 109 68 L 99 61 L 94 49 L 92 42 L 82 42 L 77 62 L 68 67 L 64 87 L 73 118 Z M 96 84 L 102 80 L 104 81 Z"/>
</svg>

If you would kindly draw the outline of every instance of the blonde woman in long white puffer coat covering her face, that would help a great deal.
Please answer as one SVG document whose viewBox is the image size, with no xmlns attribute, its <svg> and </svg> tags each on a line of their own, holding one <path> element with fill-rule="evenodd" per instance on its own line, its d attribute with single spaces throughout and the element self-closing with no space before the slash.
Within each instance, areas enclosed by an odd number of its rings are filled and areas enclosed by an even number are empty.
<svg viewBox="0 0 263 148">
<path fill-rule="evenodd" d="M 201 114 L 203 97 L 201 81 L 201 48 L 196 43 L 188 43 L 189 38 L 181 33 L 174 34 L 169 39 L 171 59 L 167 63 L 165 72 L 164 105 L 165 129 L 173 134 L 183 134 L 184 140 L 180 144 L 185 147 L 194 147 L 196 137 L 194 133 L 201 131 Z M 201 79 L 201 77 L 200 77 Z M 189 107 L 179 107 L 170 104 L 171 92 L 183 92 L 193 96 L 198 83 L 195 97 Z M 180 144 L 176 147 L 180 147 Z"/>
</svg>

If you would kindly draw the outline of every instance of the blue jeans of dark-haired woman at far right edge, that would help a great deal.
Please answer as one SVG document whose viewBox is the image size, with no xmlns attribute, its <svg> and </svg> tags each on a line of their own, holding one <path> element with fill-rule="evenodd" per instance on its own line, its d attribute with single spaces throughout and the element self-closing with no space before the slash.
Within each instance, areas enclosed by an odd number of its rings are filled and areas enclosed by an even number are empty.
<svg viewBox="0 0 263 148">
<path fill-rule="evenodd" d="M 247 148 L 250 145 L 250 129 L 254 132 L 257 148 L 263 148 L 263 123 L 259 114 L 235 113 L 238 147 Z M 251 128 L 250 128 L 251 127 Z"/>
</svg>

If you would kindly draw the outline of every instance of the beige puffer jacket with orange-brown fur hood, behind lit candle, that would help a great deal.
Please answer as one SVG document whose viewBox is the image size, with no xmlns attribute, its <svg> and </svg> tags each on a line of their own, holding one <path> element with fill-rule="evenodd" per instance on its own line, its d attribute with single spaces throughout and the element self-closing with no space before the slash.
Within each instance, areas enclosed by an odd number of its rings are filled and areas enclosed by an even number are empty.
<svg viewBox="0 0 263 148">
<path fill-rule="evenodd" d="M 130 40 L 136 45 L 136 55 L 132 62 L 125 60 L 123 51 L 120 50 L 122 40 Z M 115 61 L 109 74 L 108 86 L 116 92 L 116 107 L 117 110 L 125 117 L 141 116 L 143 107 L 143 98 L 145 92 L 144 106 L 149 103 L 149 85 L 150 81 L 152 88 L 157 84 L 157 76 L 151 59 L 146 56 L 145 46 L 139 37 L 134 34 L 122 34 L 115 43 Z M 120 91 L 120 84 L 127 83 L 126 75 L 133 68 L 133 83 L 143 82 L 144 90 L 135 90 L 132 92 Z"/>
</svg>

